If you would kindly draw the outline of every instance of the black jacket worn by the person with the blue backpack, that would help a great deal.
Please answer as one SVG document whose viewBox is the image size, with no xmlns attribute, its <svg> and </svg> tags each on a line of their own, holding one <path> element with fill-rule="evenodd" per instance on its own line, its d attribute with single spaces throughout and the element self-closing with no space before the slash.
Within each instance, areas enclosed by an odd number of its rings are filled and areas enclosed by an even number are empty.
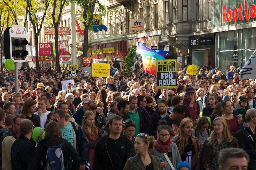
<svg viewBox="0 0 256 170">
<path fill-rule="evenodd" d="M 34 154 L 30 159 L 28 170 L 30 169 L 37 170 L 39 168 L 41 161 L 43 163 L 43 169 L 45 169 L 47 164 L 46 154 L 47 154 L 48 148 L 51 146 L 58 146 L 63 142 L 64 142 L 64 145 L 62 147 L 62 151 L 63 151 L 63 157 L 64 157 L 64 167 L 68 167 L 68 170 L 69 169 L 78 170 L 80 166 L 80 157 L 77 151 L 75 150 L 75 148 L 71 145 L 71 143 L 67 142 L 65 139 L 61 137 L 55 137 L 55 136 L 46 137 L 45 139 L 39 142 Z M 72 160 L 70 160 L 69 157 Z"/>
</svg>

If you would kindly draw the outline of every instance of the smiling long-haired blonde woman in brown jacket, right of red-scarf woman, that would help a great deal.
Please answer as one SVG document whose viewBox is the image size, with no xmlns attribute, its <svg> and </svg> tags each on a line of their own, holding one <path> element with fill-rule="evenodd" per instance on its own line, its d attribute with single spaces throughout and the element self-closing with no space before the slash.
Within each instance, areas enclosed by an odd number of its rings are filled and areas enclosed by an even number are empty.
<svg viewBox="0 0 256 170">
<path fill-rule="evenodd" d="M 200 152 L 198 140 L 193 136 L 194 123 L 190 118 L 182 119 L 178 132 L 173 137 L 181 156 L 181 161 L 187 161 L 191 169 L 195 169 L 198 154 Z"/>
</svg>

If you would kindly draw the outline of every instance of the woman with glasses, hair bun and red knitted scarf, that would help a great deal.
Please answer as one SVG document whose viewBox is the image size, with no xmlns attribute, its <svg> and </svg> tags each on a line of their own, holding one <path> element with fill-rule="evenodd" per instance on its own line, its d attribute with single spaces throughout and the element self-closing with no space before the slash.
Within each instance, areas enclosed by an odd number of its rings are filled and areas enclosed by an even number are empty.
<svg viewBox="0 0 256 170">
<path fill-rule="evenodd" d="M 161 166 L 165 170 L 172 170 L 170 163 L 176 169 L 177 164 L 181 161 L 178 147 L 176 143 L 172 142 L 170 133 L 171 129 L 167 122 L 160 121 L 157 128 L 158 137 L 155 141 L 154 149 L 151 151 L 152 155 L 157 156 L 159 159 L 162 158 Z"/>
</svg>

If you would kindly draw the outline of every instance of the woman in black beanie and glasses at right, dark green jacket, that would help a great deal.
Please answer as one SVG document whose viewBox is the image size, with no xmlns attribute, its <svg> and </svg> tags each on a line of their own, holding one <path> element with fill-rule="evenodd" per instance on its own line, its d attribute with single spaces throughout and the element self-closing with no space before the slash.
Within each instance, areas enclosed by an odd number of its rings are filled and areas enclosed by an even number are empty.
<svg viewBox="0 0 256 170">
<path fill-rule="evenodd" d="M 242 115 L 243 122 L 247 122 L 245 119 L 245 113 L 247 110 L 250 109 L 250 105 L 248 99 L 244 96 L 239 97 L 239 104 L 237 107 L 234 108 L 233 114 L 234 115 Z"/>
</svg>

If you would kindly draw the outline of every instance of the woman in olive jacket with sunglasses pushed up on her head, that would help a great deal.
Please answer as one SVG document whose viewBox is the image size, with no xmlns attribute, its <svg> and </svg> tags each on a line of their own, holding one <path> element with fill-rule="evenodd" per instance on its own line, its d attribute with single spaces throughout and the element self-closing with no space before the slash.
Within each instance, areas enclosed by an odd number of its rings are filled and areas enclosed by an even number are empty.
<svg viewBox="0 0 256 170">
<path fill-rule="evenodd" d="M 136 155 L 129 158 L 124 165 L 124 170 L 161 170 L 159 158 L 150 154 L 154 148 L 154 137 L 140 133 L 135 138 Z"/>
</svg>

